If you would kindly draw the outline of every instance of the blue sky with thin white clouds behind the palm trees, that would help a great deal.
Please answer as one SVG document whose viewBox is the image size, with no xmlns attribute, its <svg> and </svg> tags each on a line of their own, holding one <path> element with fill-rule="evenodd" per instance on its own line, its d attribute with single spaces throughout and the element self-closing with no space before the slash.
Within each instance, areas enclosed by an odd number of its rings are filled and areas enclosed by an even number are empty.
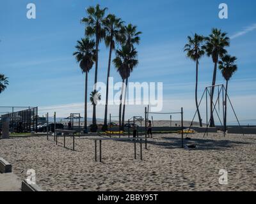
<svg viewBox="0 0 256 204">
<path fill-rule="evenodd" d="M 36 19 L 26 18 L 28 3 L 36 4 Z M 80 20 L 86 16 L 85 8 L 97 3 L 143 32 L 138 46 L 140 64 L 129 81 L 163 82 L 163 111 L 184 106 L 186 119 L 191 119 L 195 112 L 195 63 L 182 50 L 186 37 L 195 32 L 206 36 L 212 27 L 226 31 L 232 37 L 228 51 L 238 59 L 238 71 L 230 81 L 230 99 L 240 119 L 255 119 L 254 0 L 1 0 L 0 72 L 10 78 L 8 89 L 0 96 L 1 106 L 39 106 L 40 113 L 56 110 L 60 116 L 83 113 L 84 75 L 72 53 L 76 41 L 84 36 Z M 228 19 L 218 18 L 220 3 L 228 4 Z M 104 43 L 99 57 L 99 81 L 106 82 L 108 50 Z M 199 69 L 200 96 L 204 87 L 211 84 L 211 59 L 204 57 Z M 93 75 L 94 69 L 89 75 L 89 90 Z M 113 66 L 111 76 L 115 82 L 120 81 Z M 224 83 L 220 72 L 217 80 Z M 103 117 L 103 107 L 98 108 L 97 117 Z M 113 114 L 118 112 L 114 106 L 109 109 Z M 127 117 L 138 114 L 143 115 L 143 107 L 127 107 Z M 229 115 L 228 120 L 234 120 Z"/>
</svg>

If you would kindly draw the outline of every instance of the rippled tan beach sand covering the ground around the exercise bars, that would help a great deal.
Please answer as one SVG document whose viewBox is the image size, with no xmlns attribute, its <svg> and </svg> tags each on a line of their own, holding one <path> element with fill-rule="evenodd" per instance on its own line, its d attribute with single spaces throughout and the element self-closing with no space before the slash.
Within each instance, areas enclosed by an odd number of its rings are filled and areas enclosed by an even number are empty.
<svg viewBox="0 0 256 204">
<path fill-rule="evenodd" d="M 93 140 L 76 138 L 72 151 L 61 147 L 63 138 L 57 146 L 45 136 L 0 140 L 0 157 L 22 179 L 34 169 L 45 191 L 255 191 L 256 135 L 189 136 L 196 149 L 180 149 L 180 135 L 154 135 L 143 161 L 134 159 L 131 142 L 102 141 L 99 163 Z M 228 171 L 227 185 L 219 184 L 220 169 Z"/>
</svg>

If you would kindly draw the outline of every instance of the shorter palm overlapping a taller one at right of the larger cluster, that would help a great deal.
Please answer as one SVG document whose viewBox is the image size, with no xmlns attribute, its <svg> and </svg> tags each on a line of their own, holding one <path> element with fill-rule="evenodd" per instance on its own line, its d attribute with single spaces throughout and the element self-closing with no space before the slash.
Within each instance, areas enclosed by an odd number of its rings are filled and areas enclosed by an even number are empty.
<svg viewBox="0 0 256 204">
<path fill-rule="evenodd" d="M 121 114 L 122 114 L 122 94 L 124 92 L 124 81 L 130 77 L 131 71 L 138 65 L 136 59 L 138 53 L 135 48 L 131 48 L 127 45 L 122 45 L 120 50 L 116 50 L 116 58 L 113 59 L 115 67 L 122 77 L 122 90 L 120 94 L 119 105 L 119 128 L 121 129 Z"/>
</svg>

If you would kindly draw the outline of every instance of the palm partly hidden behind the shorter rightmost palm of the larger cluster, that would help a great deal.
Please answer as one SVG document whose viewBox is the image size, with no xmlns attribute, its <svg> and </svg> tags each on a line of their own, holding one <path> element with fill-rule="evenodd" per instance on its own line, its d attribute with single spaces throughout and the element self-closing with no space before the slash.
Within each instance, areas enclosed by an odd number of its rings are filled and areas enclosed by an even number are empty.
<svg viewBox="0 0 256 204">
<path fill-rule="evenodd" d="M 125 45 L 129 48 L 134 48 L 134 44 L 139 45 L 140 43 L 140 34 L 142 34 L 140 31 L 137 31 L 137 26 L 128 24 L 123 28 L 123 34 L 125 37 Z M 132 72 L 133 67 L 130 67 L 130 71 Z M 124 129 L 124 119 L 125 119 L 125 101 L 126 101 L 126 90 L 128 85 L 128 79 L 127 77 L 125 79 L 125 90 L 124 90 L 124 106 L 123 106 L 123 113 L 122 113 L 122 129 Z"/>
</svg>

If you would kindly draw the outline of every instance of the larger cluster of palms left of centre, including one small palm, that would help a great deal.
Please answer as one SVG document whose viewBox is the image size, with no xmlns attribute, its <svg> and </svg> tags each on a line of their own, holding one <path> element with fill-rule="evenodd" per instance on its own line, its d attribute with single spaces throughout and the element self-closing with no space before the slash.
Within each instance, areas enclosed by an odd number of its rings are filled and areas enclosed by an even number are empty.
<svg viewBox="0 0 256 204">
<path fill-rule="evenodd" d="M 121 18 L 117 18 L 113 14 L 106 16 L 107 8 L 100 8 L 100 5 L 86 8 L 87 16 L 82 18 L 81 22 L 86 25 L 85 37 L 80 41 L 77 41 L 76 52 L 73 55 L 76 56 L 77 62 L 85 73 L 85 98 L 84 98 L 84 131 L 87 131 L 87 84 L 88 73 L 95 64 L 95 76 L 93 91 L 90 94 L 90 101 L 93 106 L 93 120 L 91 131 L 97 131 L 96 120 L 96 106 L 97 101 L 101 99 L 100 94 L 97 92 L 97 73 L 99 64 L 99 45 L 101 41 L 105 42 L 106 47 L 109 48 L 108 59 L 108 74 L 106 85 L 106 105 L 104 112 L 104 125 L 103 131 L 108 129 L 108 92 L 109 92 L 109 77 L 110 68 L 112 62 L 112 53 L 115 51 L 115 59 L 113 64 L 115 65 L 120 77 L 122 78 L 122 92 L 120 94 L 120 106 L 119 106 L 119 126 L 124 128 L 125 118 L 125 103 L 122 106 L 123 96 L 125 101 L 126 89 L 124 83 L 127 85 L 128 78 L 131 75 L 133 69 L 138 65 L 138 52 L 134 47 L 135 44 L 140 43 L 141 32 L 137 31 L 137 27 L 128 24 L 125 25 Z M 123 95 L 124 94 L 124 95 Z M 122 112 L 123 108 L 123 112 Z"/>
</svg>

